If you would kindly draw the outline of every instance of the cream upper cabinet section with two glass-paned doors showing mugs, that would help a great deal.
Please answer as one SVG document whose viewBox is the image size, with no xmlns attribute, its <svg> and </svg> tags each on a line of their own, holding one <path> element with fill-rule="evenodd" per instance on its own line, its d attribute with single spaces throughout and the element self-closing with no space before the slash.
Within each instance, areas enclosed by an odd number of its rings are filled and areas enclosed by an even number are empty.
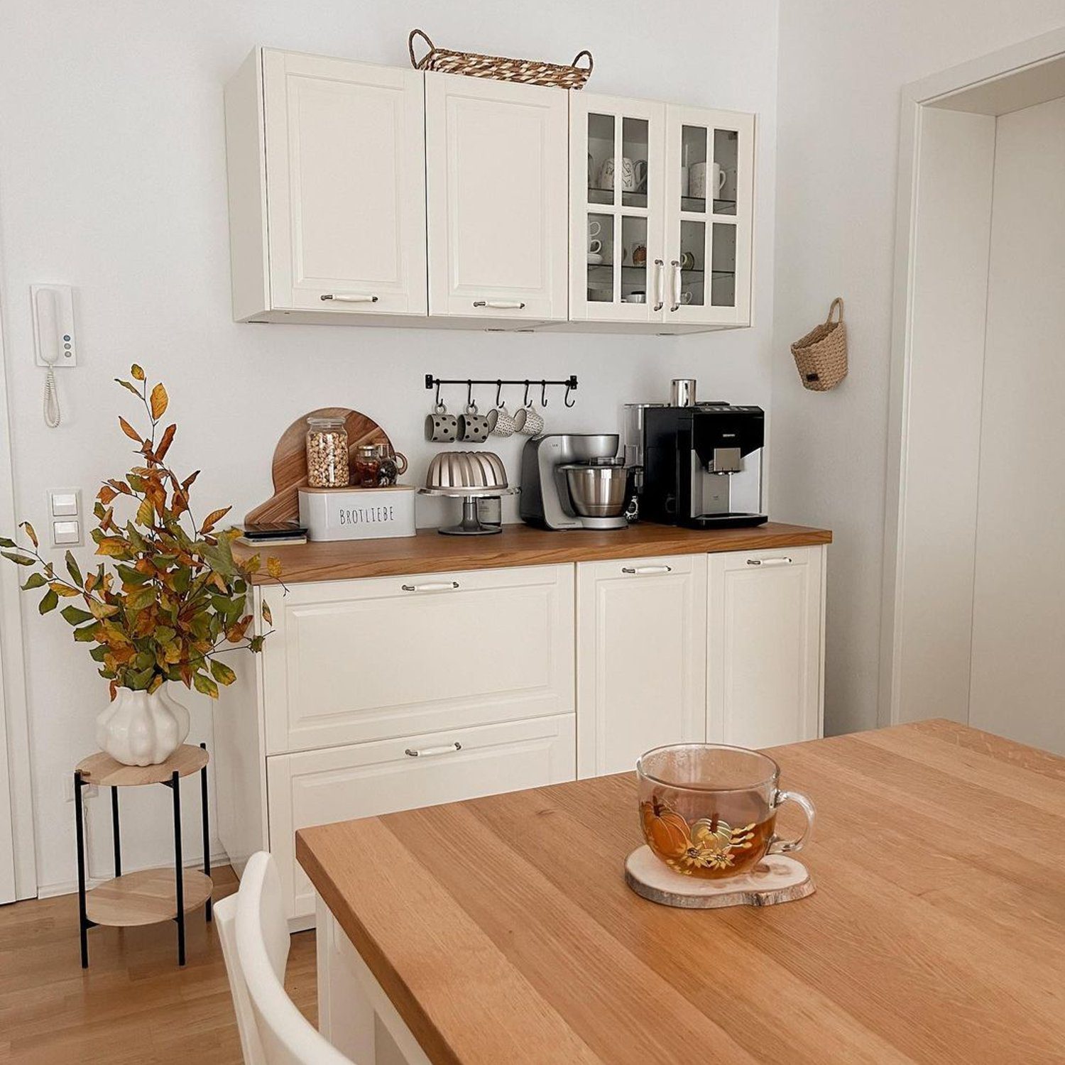
<svg viewBox="0 0 1065 1065">
<path fill-rule="evenodd" d="M 754 116 L 574 94 L 570 317 L 750 324 Z"/>
</svg>

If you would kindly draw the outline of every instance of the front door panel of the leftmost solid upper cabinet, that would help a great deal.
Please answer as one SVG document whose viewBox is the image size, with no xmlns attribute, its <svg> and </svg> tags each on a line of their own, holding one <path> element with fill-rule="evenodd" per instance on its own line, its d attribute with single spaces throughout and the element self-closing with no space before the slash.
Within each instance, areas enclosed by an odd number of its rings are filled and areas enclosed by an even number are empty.
<svg viewBox="0 0 1065 1065">
<path fill-rule="evenodd" d="M 263 52 L 275 308 L 426 313 L 422 79 Z"/>
</svg>

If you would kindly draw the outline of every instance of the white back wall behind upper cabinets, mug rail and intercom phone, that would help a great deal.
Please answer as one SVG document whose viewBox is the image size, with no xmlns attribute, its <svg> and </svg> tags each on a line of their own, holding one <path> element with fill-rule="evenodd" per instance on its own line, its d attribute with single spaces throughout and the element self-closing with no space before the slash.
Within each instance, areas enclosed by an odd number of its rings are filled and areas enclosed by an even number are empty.
<svg viewBox="0 0 1065 1065">
<path fill-rule="evenodd" d="M 788 20 L 790 26 L 790 20 Z M 758 114 L 755 326 L 681 339 L 514 335 L 230 321 L 222 85 L 257 44 L 404 65 L 407 32 L 443 46 L 566 62 L 588 46 L 594 91 Z M 620 405 L 660 399 L 673 376 L 701 393 L 768 406 L 776 105 L 776 3 L 688 0 L 581 4 L 366 3 L 351 0 L 5 0 L 0 6 L 0 245 L 18 512 L 38 528 L 45 489 L 92 499 L 125 469 L 115 425 L 131 361 L 165 378 L 180 430 L 170 457 L 203 468 L 203 504 L 243 514 L 269 489 L 269 457 L 294 417 L 323 405 L 375 416 L 424 473 L 423 375 L 564 376 L 577 405 L 547 410 L 556 429 L 608 429 Z M 60 374 L 64 423 L 40 416 L 29 285 L 77 288 L 80 366 Z M 805 308 L 804 308 L 805 309 Z M 486 395 L 485 399 L 488 398 Z M 511 472 L 520 442 L 499 452 Z M 777 507 L 781 518 L 810 513 Z M 818 520 L 828 515 L 814 511 Z M 88 552 L 78 553 L 87 557 Z M 38 879 L 73 878 L 72 807 L 63 782 L 94 748 L 105 699 L 87 655 L 23 603 L 31 700 Z M 195 702 L 193 737 L 210 739 Z M 127 864 L 165 862 L 168 793 L 127 796 Z M 106 806 L 91 803 L 94 872 L 106 873 Z M 186 792 L 186 838 L 197 801 Z M 194 850 L 193 846 L 189 847 Z"/>
</svg>

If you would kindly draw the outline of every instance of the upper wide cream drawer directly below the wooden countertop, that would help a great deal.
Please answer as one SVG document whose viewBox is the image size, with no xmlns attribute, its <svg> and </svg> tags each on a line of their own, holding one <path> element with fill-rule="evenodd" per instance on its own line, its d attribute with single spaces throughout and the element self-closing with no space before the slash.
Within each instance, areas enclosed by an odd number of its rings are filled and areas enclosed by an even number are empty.
<svg viewBox="0 0 1065 1065">
<path fill-rule="evenodd" d="M 307 584 L 268 597 L 267 754 L 574 709 L 572 566 Z"/>
</svg>

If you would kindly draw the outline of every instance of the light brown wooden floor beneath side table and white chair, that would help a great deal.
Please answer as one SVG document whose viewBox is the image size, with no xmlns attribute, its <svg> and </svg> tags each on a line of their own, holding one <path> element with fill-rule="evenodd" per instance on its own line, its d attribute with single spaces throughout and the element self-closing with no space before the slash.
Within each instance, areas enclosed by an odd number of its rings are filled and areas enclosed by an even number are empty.
<svg viewBox="0 0 1065 1065">
<path fill-rule="evenodd" d="M 216 899 L 236 888 L 227 866 Z M 0 906 L 0 1063 L 240 1065 L 222 945 L 202 911 L 189 915 L 187 964 L 174 923 L 92 929 L 78 953 L 78 897 Z M 285 986 L 315 1017 L 314 933 L 292 937 Z"/>
</svg>

